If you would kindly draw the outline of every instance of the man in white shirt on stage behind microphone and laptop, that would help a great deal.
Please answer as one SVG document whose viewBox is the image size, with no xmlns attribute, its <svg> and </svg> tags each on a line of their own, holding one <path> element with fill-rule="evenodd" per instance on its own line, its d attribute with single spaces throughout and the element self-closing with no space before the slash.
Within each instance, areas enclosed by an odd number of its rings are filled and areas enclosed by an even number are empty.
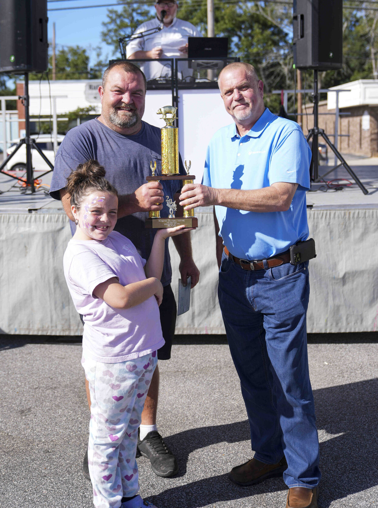
<svg viewBox="0 0 378 508">
<path fill-rule="evenodd" d="M 126 56 L 130 60 L 150 58 L 156 60 L 159 58 L 186 58 L 187 57 L 187 38 L 202 37 L 197 28 L 188 21 L 176 18 L 177 2 L 172 0 L 160 1 L 155 4 L 156 17 L 150 21 L 142 23 L 135 31 L 135 35 L 148 31 L 149 35 L 138 39 L 132 39 L 126 47 Z M 164 17 L 162 16 L 165 12 Z M 156 33 L 150 33 L 154 28 L 162 26 L 162 30 Z M 168 63 L 168 62 L 167 62 Z M 144 63 L 142 70 L 147 78 L 170 78 L 170 65 L 164 65 L 164 62 Z M 180 62 L 179 78 L 185 79 L 192 76 L 192 70 L 188 69 L 186 62 Z"/>
</svg>

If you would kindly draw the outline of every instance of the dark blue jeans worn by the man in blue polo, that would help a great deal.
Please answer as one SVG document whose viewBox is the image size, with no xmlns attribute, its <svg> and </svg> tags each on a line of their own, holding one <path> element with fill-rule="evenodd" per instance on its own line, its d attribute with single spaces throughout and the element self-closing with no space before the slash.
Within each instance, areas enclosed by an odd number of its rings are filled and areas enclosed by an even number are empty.
<svg viewBox="0 0 378 508">
<path fill-rule="evenodd" d="M 246 271 L 223 252 L 218 298 L 254 457 L 276 464 L 285 455 L 286 485 L 312 489 L 320 471 L 307 357 L 308 265 Z"/>
</svg>

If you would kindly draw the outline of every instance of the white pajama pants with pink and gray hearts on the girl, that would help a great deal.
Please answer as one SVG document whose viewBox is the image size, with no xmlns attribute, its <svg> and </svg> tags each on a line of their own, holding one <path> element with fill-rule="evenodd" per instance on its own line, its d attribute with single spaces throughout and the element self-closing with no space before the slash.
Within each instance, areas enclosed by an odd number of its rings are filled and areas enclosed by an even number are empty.
<svg viewBox="0 0 378 508">
<path fill-rule="evenodd" d="M 156 351 L 120 363 L 83 355 L 91 393 L 88 464 L 96 508 L 118 508 L 122 497 L 138 493 L 138 427 L 157 363 Z"/>
</svg>

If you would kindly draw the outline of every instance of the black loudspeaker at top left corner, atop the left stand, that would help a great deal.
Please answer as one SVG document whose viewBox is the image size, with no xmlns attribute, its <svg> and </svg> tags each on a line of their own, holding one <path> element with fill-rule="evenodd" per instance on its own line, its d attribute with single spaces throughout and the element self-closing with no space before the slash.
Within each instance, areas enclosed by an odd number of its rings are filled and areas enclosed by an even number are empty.
<svg viewBox="0 0 378 508">
<path fill-rule="evenodd" d="M 47 0 L 1 0 L 0 72 L 48 68 Z"/>
</svg>

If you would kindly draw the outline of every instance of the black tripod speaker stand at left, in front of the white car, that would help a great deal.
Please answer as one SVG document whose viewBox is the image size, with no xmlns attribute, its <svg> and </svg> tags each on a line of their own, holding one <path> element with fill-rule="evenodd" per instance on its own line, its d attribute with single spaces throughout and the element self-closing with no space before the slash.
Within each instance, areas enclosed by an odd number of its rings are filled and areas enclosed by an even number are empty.
<svg viewBox="0 0 378 508">
<path fill-rule="evenodd" d="M 31 164 L 31 148 L 33 147 L 43 158 L 43 160 L 46 162 L 46 164 L 51 168 L 49 171 L 46 171 L 42 175 L 39 175 L 38 178 L 41 178 L 42 176 L 45 176 L 47 173 L 50 173 L 54 169 L 54 166 L 51 164 L 51 162 L 48 160 L 46 155 L 43 153 L 41 148 L 37 146 L 35 139 L 30 138 L 30 117 L 29 117 L 29 75 L 26 72 L 24 74 L 25 77 L 25 94 L 23 96 L 18 96 L 20 100 L 23 101 L 24 107 L 25 107 L 25 137 L 20 139 L 20 142 L 16 146 L 16 148 L 13 150 L 13 152 L 6 158 L 6 160 L 3 162 L 3 164 L 0 165 L 0 173 L 4 173 L 7 176 L 10 176 L 11 178 L 14 178 L 15 180 L 19 180 L 21 182 L 24 182 L 25 180 L 23 178 L 20 178 L 18 176 L 10 175 L 8 172 L 4 171 L 4 168 L 7 166 L 8 162 L 11 160 L 13 155 L 21 148 L 22 145 L 25 145 L 26 147 L 26 189 L 28 187 L 30 188 L 31 194 L 35 193 L 35 187 L 34 187 L 34 180 L 36 178 L 33 178 L 33 167 Z"/>
</svg>

